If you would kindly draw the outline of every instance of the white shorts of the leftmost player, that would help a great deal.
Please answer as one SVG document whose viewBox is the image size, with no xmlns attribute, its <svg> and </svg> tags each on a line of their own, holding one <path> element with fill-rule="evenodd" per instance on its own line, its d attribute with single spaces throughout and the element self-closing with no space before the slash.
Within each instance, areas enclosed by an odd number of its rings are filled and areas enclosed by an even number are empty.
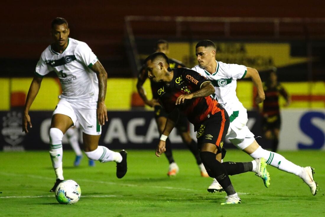
<svg viewBox="0 0 325 217">
<path fill-rule="evenodd" d="M 101 126 L 98 124 L 97 119 L 97 102 L 81 103 L 81 102 L 68 102 L 60 99 L 53 115 L 62 114 L 71 118 L 74 125 L 79 122 L 81 129 L 84 133 L 89 135 L 100 135 Z"/>
</svg>

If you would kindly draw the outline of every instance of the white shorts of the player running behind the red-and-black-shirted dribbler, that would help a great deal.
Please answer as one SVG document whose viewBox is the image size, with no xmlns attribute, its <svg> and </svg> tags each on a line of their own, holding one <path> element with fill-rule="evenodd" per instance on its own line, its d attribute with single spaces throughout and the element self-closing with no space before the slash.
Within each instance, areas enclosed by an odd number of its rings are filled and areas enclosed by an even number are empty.
<svg viewBox="0 0 325 217">
<path fill-rule="evenodd" d="M 254 134 L 246 126 L 247 121 L 247 110 L 245 108 L 240 109 L 238 117 L 230 122 L 226 135 L 226 139 L 229 139 L 240 150 L 247 148 L 255 140 Z"/>
</svg>

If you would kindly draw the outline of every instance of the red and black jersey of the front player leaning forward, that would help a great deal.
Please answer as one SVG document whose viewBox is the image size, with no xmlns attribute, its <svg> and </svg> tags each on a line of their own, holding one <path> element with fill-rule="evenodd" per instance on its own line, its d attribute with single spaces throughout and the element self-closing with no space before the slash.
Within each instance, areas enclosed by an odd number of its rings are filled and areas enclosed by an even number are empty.
<svg viewBox="0 0 325 217">
<path fill-rule="evenodd" d="M 218 102 L 211 96 L 186 99 L 184 103 L 175 105 L 180 95 L 195 92 L 201 88 L 203 83 L 210 81 L 188 68 L 173 69 L 173 72 L 173 80 L 170 83 L 157 83 L 156 94 L 166 112 L 170 113 L 177 108 L 192 124 L 198 124 L 209 114 L 214 115 L 220 111 L 217 106 Z"/>
</svg>

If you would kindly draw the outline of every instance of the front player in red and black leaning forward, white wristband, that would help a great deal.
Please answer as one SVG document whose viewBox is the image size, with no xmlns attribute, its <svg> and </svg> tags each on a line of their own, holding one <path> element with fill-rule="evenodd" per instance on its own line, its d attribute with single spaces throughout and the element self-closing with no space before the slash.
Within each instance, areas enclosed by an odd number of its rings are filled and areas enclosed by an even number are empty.
<svg viewBox="0 0 325 217">
<path fill-rule="evenodd" d="M 230 121 L 226 110 L 210 96 L 214 93 L 211 82 L 187 68 L 171 69 L 168 57 L 161 52 L 151 54 L 145 63 L 149 78 L 158 84 L 159 102 L 169 113 L 156 156 L 165 152 L 165 141 L 175 127 L 178 114 L 185 114 L 197 131 L 200 156 L 206 171 L 227 193 L 227 201 L 221 204 L 240 203 L 228 175 L 253 171 L 254 165 L 253 162 L 220 162 L 225 155 L 223 143 Z"/>
</svg>

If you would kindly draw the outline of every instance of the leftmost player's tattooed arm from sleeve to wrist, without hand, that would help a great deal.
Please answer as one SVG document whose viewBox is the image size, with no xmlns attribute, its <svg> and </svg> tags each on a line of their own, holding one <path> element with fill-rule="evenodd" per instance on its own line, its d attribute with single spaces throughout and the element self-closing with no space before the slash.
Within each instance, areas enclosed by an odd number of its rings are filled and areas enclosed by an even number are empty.
<svg viewBox="0 0 325 217">
<path fill-rule="evenodd" d="M 104 102 L 107 88 L 107 72 L 99 61 L 97 61 L 91 69 L 96 73 L 98 78 L 98 102 Z"/>
</svg>

